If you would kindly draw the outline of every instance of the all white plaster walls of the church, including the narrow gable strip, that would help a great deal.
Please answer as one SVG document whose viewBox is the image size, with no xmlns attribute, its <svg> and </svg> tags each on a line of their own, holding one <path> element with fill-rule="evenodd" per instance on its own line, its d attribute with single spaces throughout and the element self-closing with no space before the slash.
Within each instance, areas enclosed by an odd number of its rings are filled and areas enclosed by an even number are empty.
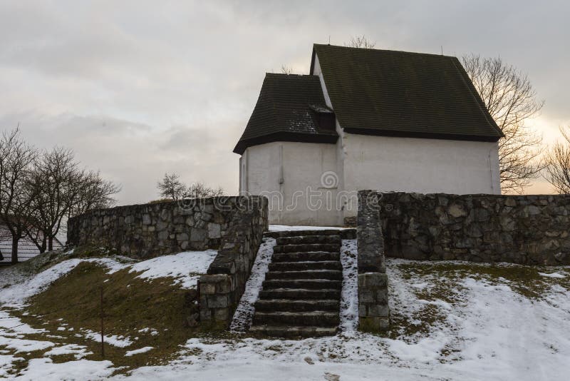
<svg viewBox="0 0 570 381">
<path fill-rule="evenodd" d="M 332 108 L 318 56 L 313 74 Z M 244 152 L 240 191 L 269 198 L 270 223 L 342 225 L 357 214 L 363 189 L 500 194 L 497 143 L 356 135 L 338 121 L 336 131 L 336 144 L 275 142 Z M 323 188 L 327 171 L 336 174 L 336 188 Z"/>
</svg>

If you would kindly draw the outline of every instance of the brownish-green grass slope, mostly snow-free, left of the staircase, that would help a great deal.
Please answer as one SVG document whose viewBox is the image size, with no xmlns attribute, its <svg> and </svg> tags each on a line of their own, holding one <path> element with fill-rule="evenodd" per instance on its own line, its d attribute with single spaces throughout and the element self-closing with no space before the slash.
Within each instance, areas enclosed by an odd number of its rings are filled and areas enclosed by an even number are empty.
<svg viewBox="0 0 570 381">
<path fill-rule="evenodd" d="M 63 344 L 85 345 L 93 354 L 88 360 L 102 360 L 100 342 L 86 337 L 86 330 L 100 332 L 100 290 L 103 288 L 105 336 L 128 337 L 128 347 L 105 345 L 105 360 L 126 371 L 142 365 L 160 365 L 172 360 L 179 346 L 195 335 L 188 317 L 197 309 L 195 290 L 181 290 L 171 278 L 142 280 L 128 269 L 108 274 L 96 263 L 80 263 L 70 273 L 28 300 L 28 315 L 16 313 L 23 322 L 41 327 L 51 335 L 27 335 L 30 340 L 51 340 Z M 63 330 L 62 327 L 66 329 Z M 71 329 L 70 329 L 71 328 Z M 149 328 L 148 330 L 145 330 Z M 58 330 L 59 329 L 59 330 Z M 154 334 L 153 334 L 154 333 Z M 152 350 L 125 357 L 142 347 Z M 25 367 L 30 358 L 41 353 L 23 354 Z M 73 360 L 73 355 L 52 357 L 54 362 Z"/>
</svg>

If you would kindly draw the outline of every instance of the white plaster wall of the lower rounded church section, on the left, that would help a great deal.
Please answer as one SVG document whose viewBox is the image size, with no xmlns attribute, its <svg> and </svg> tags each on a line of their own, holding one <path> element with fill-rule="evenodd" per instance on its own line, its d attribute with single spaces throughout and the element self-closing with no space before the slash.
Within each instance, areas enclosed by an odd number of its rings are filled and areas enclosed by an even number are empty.
<svg viewBox="0 0 570 381">
<path fill-rule="evenodd" d="M 338 185 L 326 188 L 321 184 L 323 173 L 337 176 L 336 153 L 336 145 L 326 143 L 274 142 L 249 147 L 240 159 L 240 191 L 269 198 L 269 223 L 342 225 L 343 213 L 336 202 Z"/>
</svg>

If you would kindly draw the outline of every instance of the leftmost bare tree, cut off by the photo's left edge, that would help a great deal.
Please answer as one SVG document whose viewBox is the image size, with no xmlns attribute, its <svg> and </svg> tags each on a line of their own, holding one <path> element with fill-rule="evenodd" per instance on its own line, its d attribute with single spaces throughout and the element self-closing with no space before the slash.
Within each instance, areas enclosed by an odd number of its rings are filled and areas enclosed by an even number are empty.
<svg viewBox="0 0 570 381">
<path fill-rule="evenodd" d="M 12 263 L 18 262 L 18 243 L 31 223 L 32 200 L 26 186 L 36 149 L 20 138 L 18 128 L 0 137 L 0 220 L 12 235 Z"/>
</svg>

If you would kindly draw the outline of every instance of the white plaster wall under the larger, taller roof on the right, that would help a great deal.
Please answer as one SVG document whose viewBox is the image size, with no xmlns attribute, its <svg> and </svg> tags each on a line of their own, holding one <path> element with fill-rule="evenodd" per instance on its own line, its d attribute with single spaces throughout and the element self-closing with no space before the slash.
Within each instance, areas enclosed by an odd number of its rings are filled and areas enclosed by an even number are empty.
<svg viewBox="0 0 570 381">
<path fill-rule="evenodd" d="M 497 143 L 345 132 L 343 145 L 346 191 L 501 193 Z"/>
</svg>

